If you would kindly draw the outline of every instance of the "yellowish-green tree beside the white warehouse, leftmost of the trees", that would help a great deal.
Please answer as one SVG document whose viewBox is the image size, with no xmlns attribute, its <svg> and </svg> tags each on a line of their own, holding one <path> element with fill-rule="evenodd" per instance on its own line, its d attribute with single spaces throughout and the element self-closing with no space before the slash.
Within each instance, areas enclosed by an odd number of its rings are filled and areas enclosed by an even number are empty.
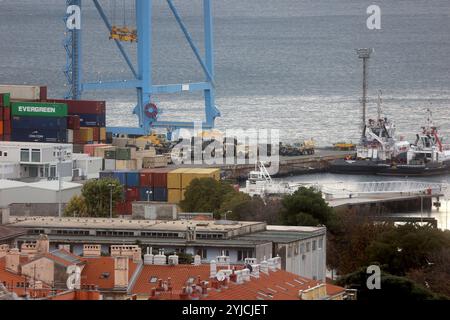
<svg viewBox="0 0 450 320">
<path fill-rule="evenodd" d="M 116 179 L 90 180 L 81 189 L 81 196 L 73 197 L 64 215 L 73 217 L 109 217 L 112 190 L 113 208 L 123 198 L 123 187 Z M 113 209 L 114 210 L 114 209 Z"/>
</svg>

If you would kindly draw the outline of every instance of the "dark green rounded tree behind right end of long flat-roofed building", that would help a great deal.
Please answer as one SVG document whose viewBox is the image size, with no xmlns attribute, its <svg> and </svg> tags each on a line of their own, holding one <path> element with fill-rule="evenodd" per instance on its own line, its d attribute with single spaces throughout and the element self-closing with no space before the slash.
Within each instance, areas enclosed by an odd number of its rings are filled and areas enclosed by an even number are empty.
<svg viewBox="0 0 450 320">
<path fill-rule="evenodd" d="M 331 207 L 322 198 L 322 193 L 313 188 L 301 187 L 282 200 L 281 222 L 291 226 L 326 225 L 336 228 L 337 219 Z"/>
</svg>

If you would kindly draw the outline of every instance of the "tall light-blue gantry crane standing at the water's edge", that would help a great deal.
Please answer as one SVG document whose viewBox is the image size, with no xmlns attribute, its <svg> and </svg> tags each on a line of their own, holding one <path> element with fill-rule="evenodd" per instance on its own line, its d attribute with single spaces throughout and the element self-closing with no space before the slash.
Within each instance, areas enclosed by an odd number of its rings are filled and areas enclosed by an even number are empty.
<svg viewBox="0 0 450 320">
<path fill-rule="evenodd" d="M 83 92 L 90 90 L 111 90 L 111 89 L 134 89 L 137 93 L 137 104 L 134 114 L 139 119 L 139 127 L 109 127 L 108 132 L 112 134 L 147 135 L 154 128 L 166 128 L 168 133 L 180 128 L 194 128 L 193 121 L 160 121 L 161 114 L 158 106 L 152 101 L 152 97 L 158 94 L 173 94 L 181 92 L 203 91 L 205 100 L 205 120 L 203 129 L 212 129 L 220 112 L 215 105 L 215 81 L 214 81 L 214 39 L 213 39 L 213 13 L 212 0 L 203 1 L 204 20 L 204 54 L 202 55 L 191 34 L 184 24 L 177 7 L 172 0 L 166 0 L 175 20 L 189 46 L 192 49 L 203 73 L 205 80 L 197 83 L 180 83 L 168 85 L 156 85 L 152 79 L 152 0 L 131 0 L 135 6 L 136 29 L 128 29 L 125 26 L 117 27 L 112 24 L 105 13 L 103 4 L 99 0 L 92 1 L 97 9 L 100 18 L 104 22 L 110 38 L 115 41 L 117 49 L 128 65 L 132 79 L 120 79 L 117 81 L 97 81 L 87 82 L 83 78 L 83 25 L 80 29 L 67 28 L 64 47 L 67 55 L 65 75 L 67 78 L 69 91 L 67 99 L 79 100 Z M 81 10 L 81 21 L 83 16 L 83 0 L 66 0 L 69 6 L 75 6 Z M 108 0 L 115 1 L 115 0 Z M 134 1 L 134 2 L 133 2 Z M 124 0 L 125 5 L 125 0 Z M 71 7 L 74 8 L 74 7 Z M 65 20 L 70 17 L 71 12 L 66 14 Z M 136 41 L 137 45 L 137 66 L 133 65 L 123 41 Z"/>
</svg>

